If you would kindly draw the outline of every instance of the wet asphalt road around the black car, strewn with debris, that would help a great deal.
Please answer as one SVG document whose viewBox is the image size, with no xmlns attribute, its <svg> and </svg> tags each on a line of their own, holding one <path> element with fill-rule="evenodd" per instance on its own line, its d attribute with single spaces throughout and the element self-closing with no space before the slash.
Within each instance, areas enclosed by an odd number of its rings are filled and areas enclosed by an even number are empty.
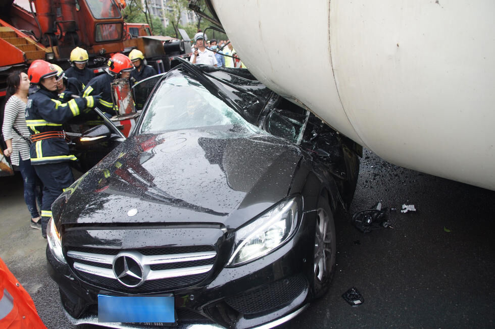
<svg viewBox="0 0 495 329">
<path fill-rule="evenodd" d="M 71 328 L 46 273 L 46 240 L 29 228 L 19 177 L 0 178 L 0 257 L 45 325 Z M 391 228 L 363 234 L 351 214 L 397 208 Z M 402 213 L 402 204 L 417 211 Z M 493 327 L 495 192 L 390 165 L 365 150 L 349 212 L 336 215 L 337 266 L 328 293 L 281 328 Z M 356 287 L 358 307 L 341 295 Z"/>
</svg>

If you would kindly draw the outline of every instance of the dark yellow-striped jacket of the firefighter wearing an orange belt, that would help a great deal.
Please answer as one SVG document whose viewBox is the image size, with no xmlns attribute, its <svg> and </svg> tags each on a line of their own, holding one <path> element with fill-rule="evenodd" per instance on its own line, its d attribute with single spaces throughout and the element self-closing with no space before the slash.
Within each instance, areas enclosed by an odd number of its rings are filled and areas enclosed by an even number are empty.
<svg viewBox="0 0 495 329">
<path fill-rule="evenodd" d="M 79 115 L 86 107 L 86 99 L 71 99 L 66 103 L 55 92 L 38 89 L 29 95 L 26 106 L 26 125 L 31 135 L 62 131 L 62 124 Z M 30 145 L 32 165 L 76 160 L 62 137 L 38 140 Z"/>
</svg>

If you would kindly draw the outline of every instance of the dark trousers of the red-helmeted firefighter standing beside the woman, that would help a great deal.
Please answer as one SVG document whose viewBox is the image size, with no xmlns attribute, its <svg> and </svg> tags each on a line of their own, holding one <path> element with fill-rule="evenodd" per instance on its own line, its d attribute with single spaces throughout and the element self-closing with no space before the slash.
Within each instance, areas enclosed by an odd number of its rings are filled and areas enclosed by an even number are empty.
<svg viewBox="0 0 495 329">
<path fill-rule="evenodd" d="M 52 217 L 52 203 L 65 188 L 74 183 L 74 175 L 69 162 L 46 163 L 33 166 L 43 183 L 43 199 L 41 201 L 41 235 L 46 238 L 46 226 Z"/>
</svg>

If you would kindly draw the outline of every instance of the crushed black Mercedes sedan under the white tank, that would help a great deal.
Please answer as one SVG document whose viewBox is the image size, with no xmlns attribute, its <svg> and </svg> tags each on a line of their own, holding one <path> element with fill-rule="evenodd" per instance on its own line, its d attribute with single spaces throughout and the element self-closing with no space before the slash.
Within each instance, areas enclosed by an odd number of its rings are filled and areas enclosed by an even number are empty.
<svg viewBox="0 0 495 329">
<path fill-rule="evenodd" d="M 361 147 L 244 69 L 183 62 L 150 79 L 130 137 L 52 205 L 66 315 L 146 328 L 298 315 L 331 281 Z"/>
</svg>

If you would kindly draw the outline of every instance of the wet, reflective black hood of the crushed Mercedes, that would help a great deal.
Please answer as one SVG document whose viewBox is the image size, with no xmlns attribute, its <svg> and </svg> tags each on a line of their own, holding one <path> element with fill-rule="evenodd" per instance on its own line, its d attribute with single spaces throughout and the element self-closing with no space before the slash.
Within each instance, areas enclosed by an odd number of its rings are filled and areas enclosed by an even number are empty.
<svg viewBox="0 0 495 329">
<path fill-rule="evenodd" d="M 53 204 L 57 224 L 237 228 L 284 198 L 302 157 L 263 133 L 184 130 L 117 146 Z M 59 221 L 62 221 L 60 223 Z"/>
</svg>

